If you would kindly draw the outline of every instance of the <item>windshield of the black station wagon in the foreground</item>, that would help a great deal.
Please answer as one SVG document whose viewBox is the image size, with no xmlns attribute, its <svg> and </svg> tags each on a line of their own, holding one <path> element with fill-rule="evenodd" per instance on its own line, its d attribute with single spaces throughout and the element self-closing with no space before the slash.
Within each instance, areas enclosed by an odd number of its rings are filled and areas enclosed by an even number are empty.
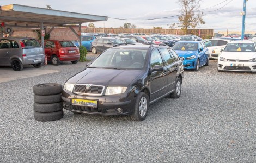
<svg viewBox="0 0 256 163">
<path fill-rule="evenodd" d="M 146 54 L 147 50 L 141 49 L 107 49 L 89 68 L 143 69 Z"/>
</svg>

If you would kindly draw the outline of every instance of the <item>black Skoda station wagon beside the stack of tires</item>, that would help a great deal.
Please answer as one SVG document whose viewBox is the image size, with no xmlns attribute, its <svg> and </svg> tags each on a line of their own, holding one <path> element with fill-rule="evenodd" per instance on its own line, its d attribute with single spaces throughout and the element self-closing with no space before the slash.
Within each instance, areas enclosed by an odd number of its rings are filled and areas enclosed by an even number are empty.
<svg viewBox="0 0 256 163">
<path fill-rule="evenodd" d="M 149 104 L 169 95 L 180 97 L 182 78 L 182 60 L 172 48 L 118 45 L 66 81 L 63 106 L 72 112 L 130 115 L 142 121 Z"/>
</svg>

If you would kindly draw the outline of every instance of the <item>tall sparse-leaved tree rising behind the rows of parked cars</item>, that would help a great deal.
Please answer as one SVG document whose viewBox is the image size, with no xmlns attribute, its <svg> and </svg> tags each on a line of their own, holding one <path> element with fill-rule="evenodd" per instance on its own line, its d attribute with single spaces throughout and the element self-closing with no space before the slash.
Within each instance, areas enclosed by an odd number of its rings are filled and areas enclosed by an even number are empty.
<svg viewBox="0 0 256 163">
<path fill-rule="evenodd" d="M 205 24 L 203 20 L 203 12 L 198 12 L 200 9 L 200 2 L 202 0 L 178 0 L 178 3 L 181 5 L 180 12 L 181 16 L 178 17 L 180 23 L 168 24 L 169 28 L 180 27 L 187 34 L 188 28 L 195 29 L 200 24 Z"/>
</svg>

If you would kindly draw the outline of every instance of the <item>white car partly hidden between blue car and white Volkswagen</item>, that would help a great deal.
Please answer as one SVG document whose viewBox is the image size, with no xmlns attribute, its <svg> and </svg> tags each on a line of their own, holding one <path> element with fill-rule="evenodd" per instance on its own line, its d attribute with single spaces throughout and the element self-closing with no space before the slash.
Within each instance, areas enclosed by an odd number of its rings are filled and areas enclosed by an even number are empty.
<svg viewBox="0 0 256 163">
<path fill-rule="evenodd" d="M 214 49 L 221 49 L 224 48 L 228 42 L 230 42 L 231 40 L 227 40 L 227 39 L 209 39 L 209 40 L 205 40 L 203 41 L 205 46 L 208 47 L 209 50 L 209 56 L 211 59 L 218 59 L 218 54 L 220 53 L 214 53 L 212 54 L 214 51 Z"/>
</svg>

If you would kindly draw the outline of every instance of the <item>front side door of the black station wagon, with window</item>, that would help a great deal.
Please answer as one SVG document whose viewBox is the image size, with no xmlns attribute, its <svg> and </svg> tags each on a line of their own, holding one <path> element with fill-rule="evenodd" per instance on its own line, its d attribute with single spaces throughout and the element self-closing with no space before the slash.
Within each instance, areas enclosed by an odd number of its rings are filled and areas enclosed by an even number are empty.
<svg viewBox="0 0 256 163">
<path fill-rule="evenodd" d="M 150 56 L 150 68 L 151 70 L 155 65 L 164 66 L 161 54 L 158 49 L 153 49 Z M 168 92 L 167 89 L 168 77 L 166 68 L 164 71 L 151 71 L 151 80 L 150 80 L 150 87 L 151 87 L 151 96 L 150 101 L 154 101 L 155 99 L 166 95 Z"/>
</svg>

